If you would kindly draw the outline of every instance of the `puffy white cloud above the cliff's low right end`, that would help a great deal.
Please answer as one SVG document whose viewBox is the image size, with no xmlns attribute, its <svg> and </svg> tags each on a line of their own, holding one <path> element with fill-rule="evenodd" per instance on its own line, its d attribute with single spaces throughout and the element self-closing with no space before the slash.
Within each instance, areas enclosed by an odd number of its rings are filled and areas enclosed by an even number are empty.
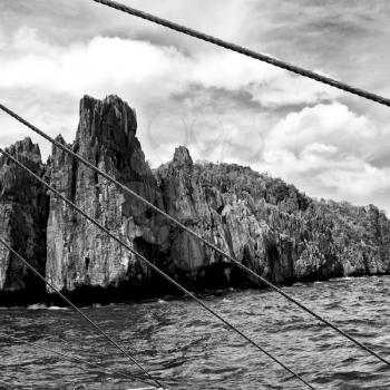
<svg viewBox="0 0 390 390">
<path fill-rule="evenodd" d="M 270 131 L 257 168 L 322 197 L 364 203 L 390 191 L 390 169 L 367 156 L 388 134 L 340 103 L 290 113 Z"/>
</svg>

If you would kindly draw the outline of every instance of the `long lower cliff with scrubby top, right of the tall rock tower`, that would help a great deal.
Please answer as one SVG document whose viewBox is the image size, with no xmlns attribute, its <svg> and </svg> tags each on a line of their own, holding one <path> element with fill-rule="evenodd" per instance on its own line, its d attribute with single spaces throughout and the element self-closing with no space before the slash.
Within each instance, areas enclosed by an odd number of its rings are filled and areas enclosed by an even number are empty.
<svg viewBox="0 0 390 390">
<path fill-rule="evenodd" d="M 273 282 L 390 271 L 390 222 L 372 205 L 318 202 L 247 167 L 193 164 L 183 147 L 156 177 L 170 215 Z M 170 266 L 185 280 L 251 282 L 187 233 L 170 237 Z"/>
</svg>

